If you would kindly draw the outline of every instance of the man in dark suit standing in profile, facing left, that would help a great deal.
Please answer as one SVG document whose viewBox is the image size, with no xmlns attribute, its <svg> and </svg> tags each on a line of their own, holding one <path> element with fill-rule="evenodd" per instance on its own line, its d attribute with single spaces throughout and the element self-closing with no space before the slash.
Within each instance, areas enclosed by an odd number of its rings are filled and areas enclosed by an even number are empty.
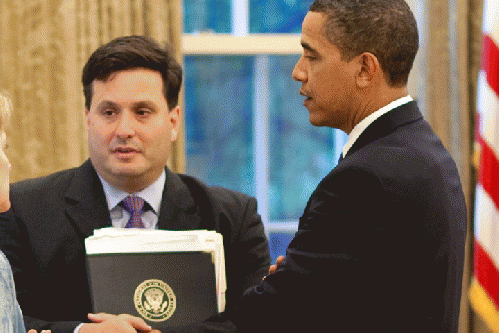
<svg viewBox="0 0 499 333">
<path fill-rule="evenodd" d="M 343 158 L 309 199 L 284 262 L 206 324 L 457 332 L 466 206 L 453 159 L 406 88 L 413 14 L 404 0 L 316 0 L 301 43 L 293 77 L 310 122 L 348 134 Z"/>
</svg>

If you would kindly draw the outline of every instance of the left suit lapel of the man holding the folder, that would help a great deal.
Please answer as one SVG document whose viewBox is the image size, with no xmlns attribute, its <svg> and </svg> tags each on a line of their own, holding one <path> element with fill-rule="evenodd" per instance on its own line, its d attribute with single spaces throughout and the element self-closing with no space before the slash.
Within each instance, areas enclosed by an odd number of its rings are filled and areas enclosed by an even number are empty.
<svg viewBox="0 0 499 333">
<path fill-rule="evenodd" d="M 84 238 L 92 235 L 95 229 L 111 226 L 102 183 L 90 160 L 75 171 L 64 205 L 67 215 Z"/>
</svg>

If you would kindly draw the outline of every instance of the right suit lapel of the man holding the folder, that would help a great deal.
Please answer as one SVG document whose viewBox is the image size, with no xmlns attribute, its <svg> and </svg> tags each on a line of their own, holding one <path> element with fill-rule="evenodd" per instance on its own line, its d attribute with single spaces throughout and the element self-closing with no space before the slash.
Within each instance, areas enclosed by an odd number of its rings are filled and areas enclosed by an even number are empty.
<svg viewBox="0 0 499 333">
<path fill-rule="evenodd" d="M 199 229 L 201 216 L 189 188 L 179 175 L 166 169 L 158 229 Z"/>
</svg>

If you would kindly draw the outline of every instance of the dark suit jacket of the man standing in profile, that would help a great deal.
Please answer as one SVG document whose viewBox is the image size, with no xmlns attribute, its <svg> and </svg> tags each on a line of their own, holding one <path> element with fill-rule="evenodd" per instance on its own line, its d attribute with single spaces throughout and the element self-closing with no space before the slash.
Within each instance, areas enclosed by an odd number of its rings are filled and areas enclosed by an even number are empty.
<svg viewBox="0 0 499 333">
<path fill-rule="evenodd" d="M 451 156 L 416 103 L 398 107 L 320 182 L 286 264 L 196 329 L 457 332 L 466 220 Z"/>
</svg>

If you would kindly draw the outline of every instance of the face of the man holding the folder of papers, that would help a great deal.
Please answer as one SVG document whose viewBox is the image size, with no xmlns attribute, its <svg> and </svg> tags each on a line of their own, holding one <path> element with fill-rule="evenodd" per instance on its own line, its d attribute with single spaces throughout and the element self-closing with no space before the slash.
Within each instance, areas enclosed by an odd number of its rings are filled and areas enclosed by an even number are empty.
<svg viewBox="0 0 499 333">
<path fill-rule="evenodd" d="M 85 110 L 90 159 L 98 174 L 127 192 L 152 184 L 166 165 L 180 126 L 169 111 L 157 71 L 136 68 L 94 80 Z"/>
</svg>

